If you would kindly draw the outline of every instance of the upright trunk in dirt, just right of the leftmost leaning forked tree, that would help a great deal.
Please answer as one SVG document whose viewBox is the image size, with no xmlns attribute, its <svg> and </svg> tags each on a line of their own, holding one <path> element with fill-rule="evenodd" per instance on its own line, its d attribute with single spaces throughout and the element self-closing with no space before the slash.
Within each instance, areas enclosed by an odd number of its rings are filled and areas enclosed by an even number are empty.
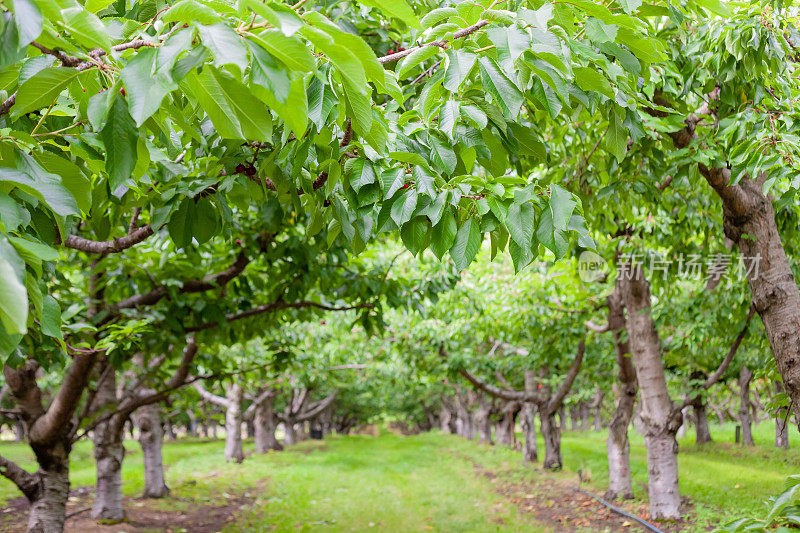
<svg viewBox="0 0 800 533">
<path fill-rule="evenodd" d="M 114 409 L 117 403 L 116 373 L 110 370 L 104 374 L 106 377 L 97 385 L 95 402 L 98 406 L 106 406 L 106 409 Z M 122 461 L 125 457 L 122 440 L 125 424 L 117 416 L 113 415 L 98 424 L 93 438 L 97 485 L 92 518 L 107 522 L 125 519 L 122 507 Z"/>
</svg>

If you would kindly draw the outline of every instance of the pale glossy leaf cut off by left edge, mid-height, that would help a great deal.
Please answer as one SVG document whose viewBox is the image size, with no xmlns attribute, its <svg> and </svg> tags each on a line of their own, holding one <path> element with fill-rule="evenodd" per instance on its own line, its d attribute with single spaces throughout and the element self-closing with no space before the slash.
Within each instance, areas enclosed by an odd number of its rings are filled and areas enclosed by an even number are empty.
<svg viewBox="0 0 800 533">
<path fill-rule="evenodd" d="M 28 294 L 23 273 L 22 260 L 0 234 L 0 323 L 12 335 L 28 331 Z"/>
</svg>

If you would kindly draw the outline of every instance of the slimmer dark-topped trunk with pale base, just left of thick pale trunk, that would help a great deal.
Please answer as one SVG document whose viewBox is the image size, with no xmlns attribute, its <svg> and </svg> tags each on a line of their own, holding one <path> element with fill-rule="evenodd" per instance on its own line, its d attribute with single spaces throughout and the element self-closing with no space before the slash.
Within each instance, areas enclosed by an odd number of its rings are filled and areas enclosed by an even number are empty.
<svg viewBox="0 0 800 533">
<path fill-rule="evenodd" d="M 633 368 L 631 359 L 631 347 L 628 342 L 624 304 L 620 290 L 618 281 L 614 287 L 614 292 L 606 299 L 608 305 L 608 328 L 614 336 L 617 368 L 619 369 L 617 383 L 614 384 L 614 417 L 608 426 L 608 440 L 606 441 L 608 490 L 605 496 L 609 500 L 633 498 L 628 428 L 631 424 L 631 418 L 633 418 L 636 395 L 639 392 L 636 370 Z"/>
</svg>

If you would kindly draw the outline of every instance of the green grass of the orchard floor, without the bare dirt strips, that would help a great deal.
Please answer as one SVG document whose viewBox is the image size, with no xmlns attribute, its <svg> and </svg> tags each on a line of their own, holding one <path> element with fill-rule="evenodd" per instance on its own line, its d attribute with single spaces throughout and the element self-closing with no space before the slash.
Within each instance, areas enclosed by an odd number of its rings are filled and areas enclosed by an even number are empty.
<svg viewBox="0 0 800 533">
<path fill-rule="evenodd" d="M 772 446 L 772 423 L 754 429 L 758 445 L 749 449 L 732 444 L 733 425 L 712 426 L 715 442 L 708 445 L 694 445 L 691 432 L 681 441 L 681 493 L 695 504 L 698 527 L 759 514 L 784 479 L 800 472 L 800 435 L 791 435 L 791 450 L 778 450 Z M 126 448 L 123 490 L 135 496 L 143 486 L 141 452 L 134 441 L 126 442 Z M 251 449 L 246 443 L 245 451 Z M 0 443 L 0 454 L 30 470 L 35 467 L 24 445 Z M 582 469 L 598 494 L 608 480 L 605 432 L 566 432 L 565 470 L 557 474 L 523 464 L 519 452 L 439 433 L 307 441 L 281 453 L 250 455 L 241 465 L 227 464 L 222 456 L 221 440 L 166 443 L 164 462 L 174 498 L 163 503 L 165 508 L 220 504 L 246 494 L 254 505 L 243 512 L 235 531 L 320 526 L 331 531 L 535 531 L 540 528 L 531 517 L 519 515 L 489 480 L 476 475 L 475 465 L 497 473 L 501 481 L 526 483 L 550 475 L 577 481 Z M 643 500 L 645 449 L 633 431 L 631 467 L 634 492 Z M 81 442 L 71 457 L 72 485 L 92 486 L 94 479 L 91 443 Z M 9 482 L 0 480 L 0 502 L 17 496 Z"/>
</svg>

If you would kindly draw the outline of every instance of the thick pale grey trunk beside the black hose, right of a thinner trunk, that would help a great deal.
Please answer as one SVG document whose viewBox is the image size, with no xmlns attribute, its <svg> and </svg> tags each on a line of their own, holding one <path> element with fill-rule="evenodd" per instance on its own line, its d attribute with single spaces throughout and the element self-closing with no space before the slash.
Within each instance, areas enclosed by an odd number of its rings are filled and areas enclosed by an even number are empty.
<svg viewBox="0 0 800 533">
<path fill-rule="evenodd" d="M 650 517 L 680 518 L 678 491 L 678 442 L 680 410 L 672 403 L 661 359 L 661 342 L 650 315 L 650 284 L 641 266 L 620 273 L 628 333 L 639 387 L 642 391 L 642 423 L 647 446 Z"/>
</svg>

